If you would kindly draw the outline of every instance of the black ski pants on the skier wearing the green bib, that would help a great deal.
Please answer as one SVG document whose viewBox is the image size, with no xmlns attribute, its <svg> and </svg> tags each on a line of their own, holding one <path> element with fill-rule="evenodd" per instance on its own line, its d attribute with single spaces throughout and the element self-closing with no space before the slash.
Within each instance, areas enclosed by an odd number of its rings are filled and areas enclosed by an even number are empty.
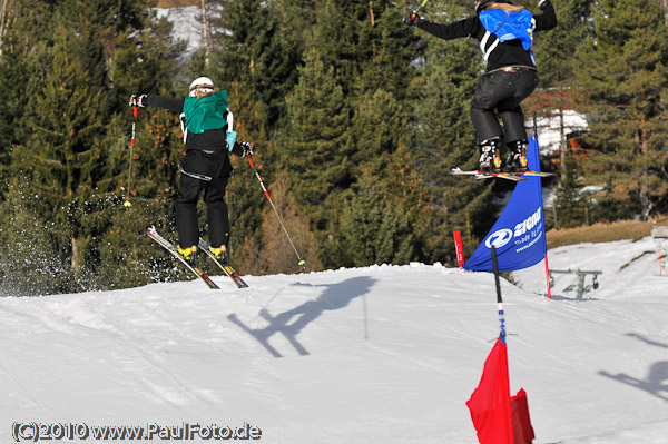
<svg viewBox="0 0 668 444">
<path fill-rule="evenodd" d="M 225 201 L 230 170 L 229 166 L 226 168 L 228 162 L 225 151 L 189 149 L 186 152 L 180 165 L 180 188 L 175 199 L 176 228 L 181 248 L 199 243 L 197 201 L 202 191 L 206 204 L 209 244 L 218 248 L 229 241 L 229 215 Z"/>
</svg>

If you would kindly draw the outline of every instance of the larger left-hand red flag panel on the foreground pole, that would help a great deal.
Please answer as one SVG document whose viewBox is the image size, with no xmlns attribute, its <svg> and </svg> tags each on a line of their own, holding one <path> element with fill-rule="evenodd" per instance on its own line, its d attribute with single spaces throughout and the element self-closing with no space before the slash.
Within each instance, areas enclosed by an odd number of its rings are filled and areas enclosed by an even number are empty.
<svg viewBox="0 0 668 444">
<path fill-rule="evenodd" d="M 466 402 L 480 444 L 514 444 L 508 349 L 501 337 L 484 362 L 478 388 Z"/>
</svg>

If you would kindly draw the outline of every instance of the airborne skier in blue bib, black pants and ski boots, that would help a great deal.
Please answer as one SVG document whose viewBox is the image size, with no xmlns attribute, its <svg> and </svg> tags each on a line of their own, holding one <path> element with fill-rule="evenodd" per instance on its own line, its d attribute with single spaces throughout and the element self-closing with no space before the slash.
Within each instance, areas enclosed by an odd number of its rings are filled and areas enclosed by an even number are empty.
<svg viewBox="0 0 668 444">
<path fill-rule="evenodd" d="M 550 0 L 540 0 L 542 14 L 505 0 L 477 0 L 475 17 L 450 24 L 430 22 L 415 13 L 403 22 L 444 40 L 472 37 L 480 43 L 487 62 L 471 101 L 471 121 L 481 148 L 480 170 L 501 170 L 502 140 L 509 148 L 505 168 L 509 171 L 527 170 L 527 129 L 520 103 L 538 85 L 536 61 L 531 52 L 533 32 L 547 31 L 557 26 L 554 8 Z M 503 121 L 503 129 L 498 117 Z"/>
</svg>

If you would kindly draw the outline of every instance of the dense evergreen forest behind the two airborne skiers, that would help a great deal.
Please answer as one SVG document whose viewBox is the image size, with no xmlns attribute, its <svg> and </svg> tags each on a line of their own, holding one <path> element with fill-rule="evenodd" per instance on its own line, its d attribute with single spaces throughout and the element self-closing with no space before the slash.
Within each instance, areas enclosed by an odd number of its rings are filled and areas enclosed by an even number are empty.
<svg viewBox="0 0 668 444">
<path fill-rule="evenodd" d="M 533 115 L 573 109 L 588 129 L 564 130 L 559 152 L 541 159 L 558 172 L 546 182 L 548 228 L 665 215 L 668 2 L 552 2 L 558 27 L 534 36 L 529 132 Z M 448 174 L 478 162 L 477 41 L 403 24 L 420 1 L 190 3 L 206 3 L 207 32 L 184 57 L 178 23 L 158 18 L 155 0 L 0 0 L 0 293 L 191 278 L 145 235 L 151 224 L 177 237 L 178 116 L 139 108 L 135 119 L 128 101 L 184 97 L 199 76 L 228 91 L 238 139 L 253 145 L 306 270 L 455 266 L 454 230 L 473 251 L 512 190 Z M 514 3 L 540 13 L 536 0 Z M 430 0 L 421 16 L 446 23 L 472 6 Z M 242 274 L 301 272 L 249 164 L 232 162 L 232 263 Z"/>
</svg>

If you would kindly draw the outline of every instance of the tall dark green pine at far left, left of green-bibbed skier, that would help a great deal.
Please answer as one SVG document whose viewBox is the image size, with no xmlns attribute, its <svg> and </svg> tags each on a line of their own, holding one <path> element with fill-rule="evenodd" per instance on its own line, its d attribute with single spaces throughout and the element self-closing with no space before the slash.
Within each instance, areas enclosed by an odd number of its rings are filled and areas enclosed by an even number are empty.
<svg viewBox="0 0 668 444">
<path fill-rule="evenodd" d="M 98 87 L 101 60 L 85 57 L 94 53 L 88 47 L 95 31 L 81 27 L 80 38 L 75 36 L 65 19 L 69 12 L 55 13 L 53 47 L 42 59 L 47 75 L 32 102 L 39 112 L 29 119 L 33 132 L 14 148 L 13 161 L 31 167 L 23 174 L 40 196 L 32 209 L 38 220 L 56 220 L 60 251 L 55 250 L 69 256 L 77 275 L 90 240 L 82 230 L 82 211 L 104 175 L 100 129 L 108 99 Z"/>
</svg>

